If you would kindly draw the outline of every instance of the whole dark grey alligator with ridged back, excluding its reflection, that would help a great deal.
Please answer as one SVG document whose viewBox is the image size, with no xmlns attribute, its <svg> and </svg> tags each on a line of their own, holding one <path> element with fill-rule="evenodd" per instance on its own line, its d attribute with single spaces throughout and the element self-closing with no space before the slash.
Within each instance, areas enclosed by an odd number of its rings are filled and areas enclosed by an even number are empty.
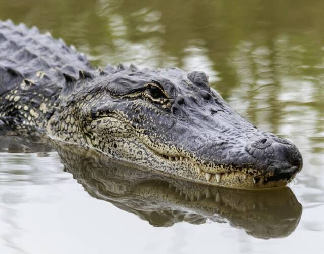
<svg viewBox="0 0 324 254">
<path fill-rule="evenodd" d="M 215 186 L 284 186 L 303 164 L 294 144 L 236 113 L 204 72 L 95 68 L 62 39 L 10 20 L 0 22 L 0 126 Z"/>
</svg>

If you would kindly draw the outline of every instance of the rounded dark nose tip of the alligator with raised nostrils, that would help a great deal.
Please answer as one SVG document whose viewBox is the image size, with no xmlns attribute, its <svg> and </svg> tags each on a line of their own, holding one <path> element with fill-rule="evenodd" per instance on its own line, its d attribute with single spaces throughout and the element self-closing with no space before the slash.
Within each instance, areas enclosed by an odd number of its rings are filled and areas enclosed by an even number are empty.
<svg viewBox="0 0 324 254">
<path fill-rule="evenodd" d="M 245 147 L 255 159 L 256 165 L 263 168 L 264 174 L 273 173 L 276 179 L 291 179 L 303 165 L 298 148 L 286 139 L 267 137 L 258 139 Z"/>
</svg>

